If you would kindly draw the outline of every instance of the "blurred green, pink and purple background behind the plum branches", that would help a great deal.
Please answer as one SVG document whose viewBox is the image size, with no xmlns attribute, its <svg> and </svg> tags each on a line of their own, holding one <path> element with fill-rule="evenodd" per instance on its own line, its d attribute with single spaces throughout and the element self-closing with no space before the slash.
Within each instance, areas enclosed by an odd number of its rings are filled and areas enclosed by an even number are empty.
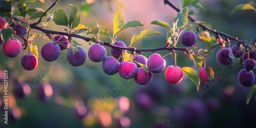
<svg viewBox="0 0 256 128">
<path fill-rule="evenodd" d="M 171 2 L 181 7 L 181 1 Z M 206 10 L 195 9 L 193 17 L 205 21 L 205 25 L 210 28 L 252 42 L 256 37 L 256 13 L 247 10 L 230 14 L 236 5 L 248 2 L 202 0 L 201 4 Z M 30 7 L 47 10 L 47 3 L 48 1 L 46 4 L 28 4 Z M 118 36 L 117 40 L 124 41 L 127 46 L 134 34 L 147 28 L 163 33 L 136 41 L 133 44 L 136 48 L 164 46 L 168 30 L 149 25 L 153 20 L 172 25 L 177 14 L 174 9 L 164 5 L 163 0 L 61 0 L 49 13 L 57 8 L 64 8 L 69 15 L 71 8 L 68 4 L 78 8 L 81 24 L 91 28 L 98 23 L 108 28 L 110 33 L 113 33 L 114 10 L 117 5 L 120 6 L 125 23 L 139 20 L 145 25 L 125 30 Z M 64 31 L 63 27 L 52 21 L 46 29 Z M 190 30 L 196 31 L 196 28 L 192 27 Z M 43 33 L 40 34 L 44 36 Z M 100 39 L 110 41 L 103 35 Z M 88 42 L 77 38 L 74 40 L 88 51 Z M 33 41 L 38 52 L 47 42 L 41 38 Z M 236 43 L 231 40 L 231 45 Z M 196 46 L 207 49 L 206 42 L 200 39 Z M 26 71 L 20 65 L 20 59 L 28 53 L 28 49 L 15 58 L 9 58 L 0 47 L 0 127 L 256 127 L 255 99 L 253 97 L 246 105 L 250 88 L 242 87 L 237 80 L 237 74 L 242 69 L 240 58 L 233 65 L 219 65 L 216 61 L 219 46 L 211 50 L 206 60 L 206 65 L 214 70 L 215 78 L 209 83 L 201 83 L 199 91 L 186 75 L 180 83 L 170 84 L 165 80 L 164 72 L 161 72 L 153 74 L 152 81 L 141 86 L 133 79 L 121 78 L 119 74 L 105 74 L 101 62 L 95 63 L 89 58 L 84 65 L 73 67 L 67 61 L 67 50 L 61 51 L 60 57 L 53 62 L 45 61 L 39 53 L 37 68 Z M 105 48 L 108 56 L 111 56 L 110 48 Z M 165 55 L 168 52 L 158 53 Z M 151 54 L 142 53 L 146 57 Z M 179 51 L 177 54 L 179 67 L 195 68 L 187 54 Z M 166 66 L 174 65 L 172 55 L 164 59 Z M 3 122 L 4 70 L 8 71 L 9 83 L 8 125 Z"/>
</svg>

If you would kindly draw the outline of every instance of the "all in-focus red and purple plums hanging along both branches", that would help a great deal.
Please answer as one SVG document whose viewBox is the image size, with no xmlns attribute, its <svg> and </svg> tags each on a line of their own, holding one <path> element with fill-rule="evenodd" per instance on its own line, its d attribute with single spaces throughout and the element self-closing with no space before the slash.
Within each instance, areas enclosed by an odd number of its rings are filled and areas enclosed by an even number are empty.
<svg viewBox="0 0 256 128">
<path fill-rule="evenodd" d="M 7 27 L 7 22 L 3 17 L 0 17 L 0 29 Z M 24 36 L 28 30 L 26 27 L 16 24 L 13 27 L 16 35 Z M 83 65 L 86 61 L 87 53 L 82 47 L 70 47 L 70 41 L 67 36 L 56 35 L 54 41 L 47 42 L 41 48 L 41 57 L 46 61 L 54 61 L 60 56 L 60 51 L 68 49 L 67 59 L 70 65 L 77 67 Z M 197 42 L 197 35 L 194 31 L 185 30 L 180 35 L 181 44 L 186 47 L 193 47 Z M 123 41 L 116 41 L 113 45 L 126 47 Z M 75 50 L 75 51 L 73 51 Z M 16 38 L 8 39 L 3 45 L 5 55 L 15 57 L 22 51 L 22 44 Z M 111 48 L 112 56 L 106 57 L 106 49 L 100 44 L 92 45 L 88 50 L 89 58 L 94 62 L 102 62 L 102 69 L 106 74 L 114 75 L 117 72 L 124 79 L 134 80 L 138 84 L 147 84 L 151 81 L 153 73 L 160 73 L 165 69 L 166 62 L 158 53 L 152 54 L 148 59 L 143 55 L 135 55 L 131 61 L 123 61 L 122 55 L 126 50 L 117 50 Z M 230 55 L 232 54 L 232 55 Z M 249 52 L 250 59 L 247 60 L 248 53 L 243 53 L 243 50 L 238 46 L 233 46 L 232 49 L 222 48 L 217 52 L 217 61 L 221 65 L 230 65 L 234 62 L 234 57 L 241 57 L 244 62 L 244 70 L 239 72 L 239 81 L 242 85 L 249 87 L 254 83 L 255 77 L 251 70 L 255 65 L 256 51 Z M 234 57 L 232 57 L 234 56 Z M 254 61 L 253 61 L 254 60 Z M 21 60 L 22 67 L 26 70 L 33 70 L 37 67 L 38 60 L 33 54 L 25 54 Z M 141 65 L 145 65 L 149 71 L 146 71 Z M 248 68 L 250 67 L 250 68 Z M 209 82 L 206 69 L 203 67 L 199 70 L 199 79 L 202 82 Z M 183 71 L 178 66 L 168 66 L 165 70 L 165 78 L 169 83 L 178 83 L 183 78 Z"/>
</svg>

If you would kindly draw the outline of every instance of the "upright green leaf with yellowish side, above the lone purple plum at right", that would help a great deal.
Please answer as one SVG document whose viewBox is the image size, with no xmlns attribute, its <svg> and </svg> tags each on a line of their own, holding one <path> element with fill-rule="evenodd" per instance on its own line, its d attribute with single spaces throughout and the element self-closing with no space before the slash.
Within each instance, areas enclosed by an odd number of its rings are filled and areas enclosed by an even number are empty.
<svg viewBox="0 0 256 128">
<path fill-rule="evenodd" d="M 187 23 L 188 7 L 182 9 L 182 11 L 177 13 L 177 16 L 174 18 L 174 22 L 178 20 L 177 28 L 182 27 Z"/>
</svg>

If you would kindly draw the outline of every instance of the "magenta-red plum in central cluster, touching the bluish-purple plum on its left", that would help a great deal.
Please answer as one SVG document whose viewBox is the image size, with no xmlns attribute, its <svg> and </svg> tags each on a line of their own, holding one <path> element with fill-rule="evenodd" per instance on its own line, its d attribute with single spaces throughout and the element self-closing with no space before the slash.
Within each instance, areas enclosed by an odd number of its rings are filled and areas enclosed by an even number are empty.
<svg viewBox="0 0 256 128">
<path fill-rule="evenodd" d="M 138 71 L 138 67 L 134 62 L 123 61 L 118 67 L 119 75 L 124 79 L 133 78 Z"/>
</svg>

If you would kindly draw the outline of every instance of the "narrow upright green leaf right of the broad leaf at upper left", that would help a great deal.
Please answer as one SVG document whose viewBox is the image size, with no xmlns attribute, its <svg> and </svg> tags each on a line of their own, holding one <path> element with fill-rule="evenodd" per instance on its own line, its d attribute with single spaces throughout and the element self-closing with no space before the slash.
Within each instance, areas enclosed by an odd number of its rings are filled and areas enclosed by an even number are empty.
<svg viewBox="0 0 256 128">
<path fill-rule="evenodd" d="M 78 9 L 72 4 L 69 4 L 69 5 L 72 8 L 72 12 L 69 17 L 69 28 L 73 29 L 79 25 L 80 16 L 78 14 Z"/>
</svg>

